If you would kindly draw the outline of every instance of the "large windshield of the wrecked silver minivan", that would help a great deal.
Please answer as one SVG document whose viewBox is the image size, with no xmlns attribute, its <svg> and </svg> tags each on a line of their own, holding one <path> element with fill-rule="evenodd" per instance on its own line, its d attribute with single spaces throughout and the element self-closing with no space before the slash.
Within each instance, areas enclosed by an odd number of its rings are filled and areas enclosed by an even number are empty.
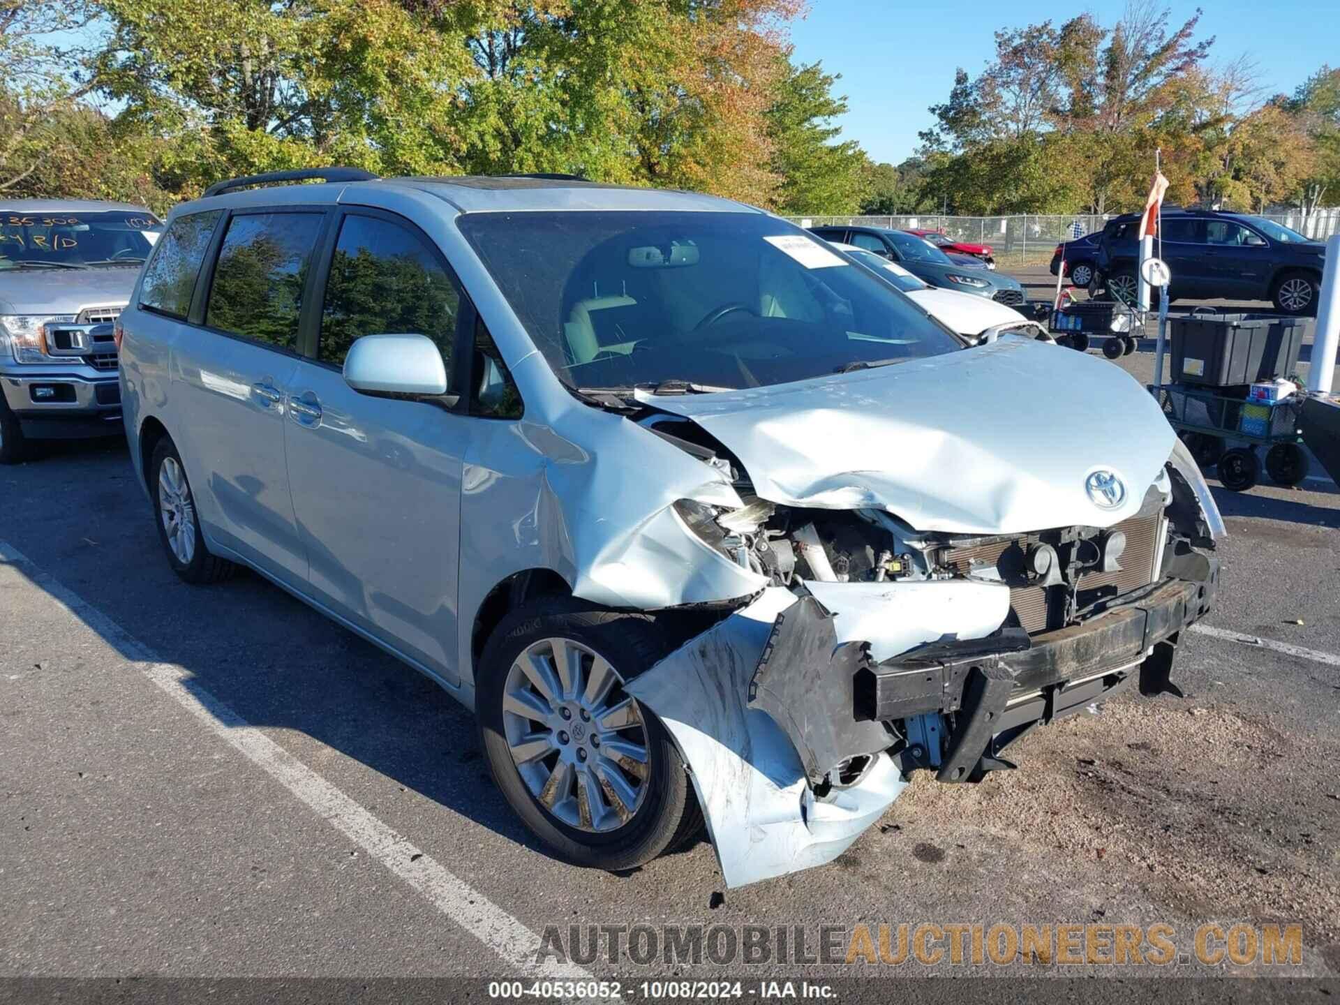
<svg viewBox="0 0 1340 1005">
<path fill-rule="evenodd" d="M 466 213 L 457 225 L 572 387 L 757 387 L 962 348 L 761 213 Z"/>
</svg>

